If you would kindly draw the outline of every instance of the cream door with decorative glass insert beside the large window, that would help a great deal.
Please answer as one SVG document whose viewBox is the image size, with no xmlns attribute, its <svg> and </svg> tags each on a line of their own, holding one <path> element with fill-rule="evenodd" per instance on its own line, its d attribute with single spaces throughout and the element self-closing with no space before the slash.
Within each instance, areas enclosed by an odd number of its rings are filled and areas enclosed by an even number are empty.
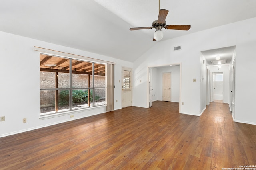
<svg viewBox="0 0 256 170">
<path fill-rule="evenodd" d="M 122 107 L 132 106 L 132 69 L 122 68 Z"/>
</svg>

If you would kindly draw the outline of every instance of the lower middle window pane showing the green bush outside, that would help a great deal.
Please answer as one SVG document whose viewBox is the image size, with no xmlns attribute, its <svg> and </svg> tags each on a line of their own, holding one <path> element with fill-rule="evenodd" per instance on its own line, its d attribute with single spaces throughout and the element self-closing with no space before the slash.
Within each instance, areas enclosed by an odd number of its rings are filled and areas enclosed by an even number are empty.
<svg viewBox="0 0 256 170">
<path fill-rule="evenodd" d="M 90 91 L 90 95 L 88 95 L 88 92 Z M 88 98 L 90 97 L 89 104 L 92 106 L 92 89 L 85 89 L 85 90 L 72 90 L 72 109 L 83 109 L 88 106 Z"/>
</svg>

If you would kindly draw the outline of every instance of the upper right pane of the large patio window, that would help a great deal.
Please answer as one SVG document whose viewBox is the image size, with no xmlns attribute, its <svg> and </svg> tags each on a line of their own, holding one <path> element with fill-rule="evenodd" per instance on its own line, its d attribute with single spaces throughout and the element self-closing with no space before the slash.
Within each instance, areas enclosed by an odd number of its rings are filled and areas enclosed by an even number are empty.
<svg viewBox="0 0 256 170">
<path fill-rule="evenodd" d="M 94 87 L 106 87 L 106 65 L 94 64 Z"/>
</svg>

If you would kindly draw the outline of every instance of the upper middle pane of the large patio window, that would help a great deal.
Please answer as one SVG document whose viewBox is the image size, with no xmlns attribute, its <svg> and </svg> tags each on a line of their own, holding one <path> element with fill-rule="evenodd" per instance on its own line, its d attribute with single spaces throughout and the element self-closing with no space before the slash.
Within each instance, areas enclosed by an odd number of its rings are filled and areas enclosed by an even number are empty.
<svg viewBox="0 0 256 170">
<path fill-rule="evenodd" d="M 90 87 L 88 74 L 92 74 L 92 63 L 72 59 L 72 88 Z"/>
</svg>

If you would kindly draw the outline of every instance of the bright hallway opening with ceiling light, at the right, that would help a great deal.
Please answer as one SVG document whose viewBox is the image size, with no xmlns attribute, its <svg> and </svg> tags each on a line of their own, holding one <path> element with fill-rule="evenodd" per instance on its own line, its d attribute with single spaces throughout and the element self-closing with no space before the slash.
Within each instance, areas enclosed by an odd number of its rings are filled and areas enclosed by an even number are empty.
<svg viewBox="0 0 256 170">
<path fill-rule="evenodd" d="M 227 103 L 234 114 L 234 62 L 236 46 L 222 47 L 201 51 L 200 64 L 202 80 L 201 103 L 206 100 L 206 106 L 210 102 Z M 206 87 L 205 87 L 206 86 Z"/>
</svg>

